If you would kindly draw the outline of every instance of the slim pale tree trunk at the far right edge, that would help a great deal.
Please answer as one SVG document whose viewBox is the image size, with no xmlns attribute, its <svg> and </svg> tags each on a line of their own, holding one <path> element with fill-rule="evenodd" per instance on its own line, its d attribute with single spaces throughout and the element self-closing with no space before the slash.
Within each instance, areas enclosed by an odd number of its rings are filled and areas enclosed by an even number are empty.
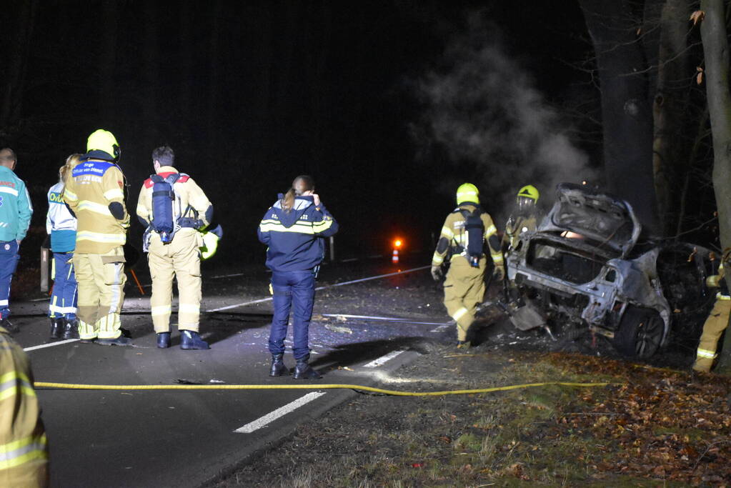
<svg viewBox="0 0 731 488">
<path fill-rule="evenodd" d="M 723 0 L 701 0 L 705 19 L 700 37 L 705 57 L 705 93 L 713 140 L 713 192 L 719 213 L 721 248 L 731 247 L 731 95 L 729 44 Z M 731 280 L 731 278 L 727 278 Z M 731 334 L 726 334 L 718 371 L 731 371 Z"/>
</svg>

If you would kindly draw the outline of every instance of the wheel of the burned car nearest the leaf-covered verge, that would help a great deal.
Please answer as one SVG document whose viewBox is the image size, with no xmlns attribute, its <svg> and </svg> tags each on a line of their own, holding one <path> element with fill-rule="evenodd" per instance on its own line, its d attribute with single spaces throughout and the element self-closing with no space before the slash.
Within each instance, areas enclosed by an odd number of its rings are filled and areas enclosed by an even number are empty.
<svg viewBox="0 0 731 488">
<path fill-rule="evenodd" d="M 614 347 L 627 357 L 648 359 L 662 343 L 664 323 L 655 310 L 627 307 L 614 333 Z"/>
</svg>

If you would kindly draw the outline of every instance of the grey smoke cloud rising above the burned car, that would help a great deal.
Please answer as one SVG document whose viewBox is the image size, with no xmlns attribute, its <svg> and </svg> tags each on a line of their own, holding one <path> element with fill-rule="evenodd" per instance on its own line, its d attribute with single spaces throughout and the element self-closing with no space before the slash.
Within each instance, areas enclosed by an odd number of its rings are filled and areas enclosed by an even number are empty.
<svg viewBox="0 0 731 488">
<path fill-rule="evenodd" d="M 507 215 L 527 184 L 539 188 L 547 207 L 558 183 L 593 180 L 593 170 L 567 137 L 567 123 L 485 24 L 472 15 L 467 34 L 445 50 L 442 68 L 417 81 L 417 157 L 435 165 L 447 193 L 465 180 L 477 184 L 488 211 Z"/>
</svg>

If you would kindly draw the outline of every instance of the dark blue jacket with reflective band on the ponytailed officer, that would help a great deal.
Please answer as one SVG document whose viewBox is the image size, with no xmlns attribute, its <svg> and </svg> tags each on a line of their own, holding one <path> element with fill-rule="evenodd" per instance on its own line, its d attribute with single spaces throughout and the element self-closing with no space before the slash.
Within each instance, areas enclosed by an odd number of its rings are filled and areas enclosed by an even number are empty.
<svg viewBox="0 0 731 488">
<path fill-rule="evenodd" d="M 325 257 L 325 242 L 338 232 L 338 223 L 313 197 L 295 197 L 289 213 L 281 207 L 282 195 L 264 214 L 257 234 L 268 245 L 267 267 L 272 271 L 311 270 Z"/>
</svg>

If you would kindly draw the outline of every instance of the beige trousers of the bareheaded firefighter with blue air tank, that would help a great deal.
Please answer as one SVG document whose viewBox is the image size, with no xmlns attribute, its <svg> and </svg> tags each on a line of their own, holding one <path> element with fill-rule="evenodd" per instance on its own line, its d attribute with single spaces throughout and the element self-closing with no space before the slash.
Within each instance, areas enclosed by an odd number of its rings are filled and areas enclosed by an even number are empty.
<svg viewBox="0 0 731 488">
<path fill-rule="evenodd" d="M 178 281 L 178 329 L 198 332 L 200 319 L 201 280 L 200 245 L 202 237 L 194 229 L 175 232 L 173 241 L 163 244 L 153 233 L 148 248 L 148 264 L 152 277 L 152 323 L 155 332 L 170 332 L 173 311 L 173 276 Z"/>
</svg>

